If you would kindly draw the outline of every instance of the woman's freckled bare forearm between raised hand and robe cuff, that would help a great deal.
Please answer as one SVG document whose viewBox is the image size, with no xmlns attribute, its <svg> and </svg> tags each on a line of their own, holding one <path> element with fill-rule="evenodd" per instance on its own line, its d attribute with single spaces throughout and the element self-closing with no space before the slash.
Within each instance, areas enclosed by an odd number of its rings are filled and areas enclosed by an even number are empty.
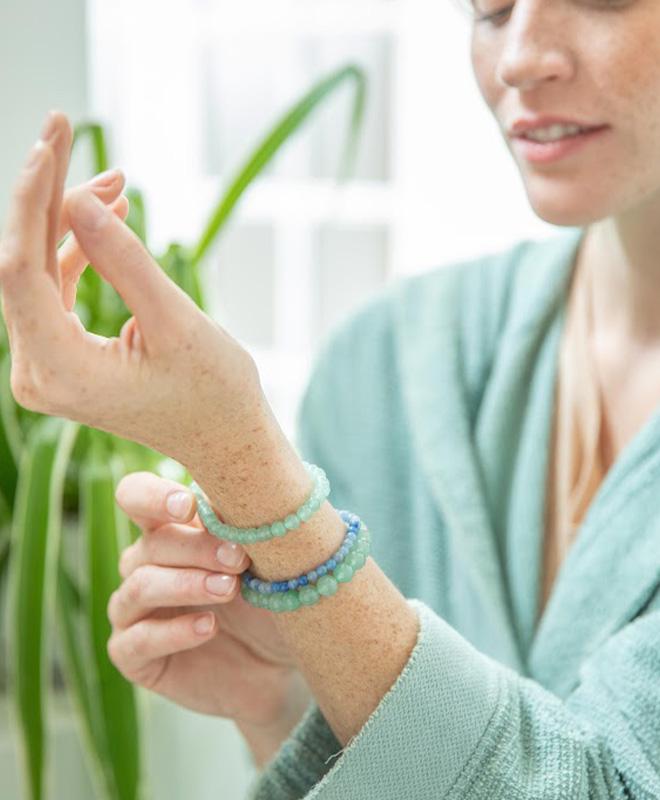
<svg viewBox="0 0 660 800">
<path fill-rule="evenodd" d="M 189 467 L 216 511 L 227 524 L 238 527 L 283 518 L 300 506 L 310 490 L 302 461 L 273 418 L 264 422 L 261 432 L 255 428 L 255 437 L 258 446 L 244 442 L 232 453 L 231 462 L 218 460 L 209 447 L 209 463 Z M 369 520 L 364 522 L 369 525 Z M 245 545 L 251 571 L 264 580 L 309 571 L 338 549 L 344 531 L 337 510 L 326 501 L 297 530 Z M 406 664 L 417 640 L 415 612 L 368 558 L 334 595 L 275 614 L 275 620 L 319 708 L 345 747 Z"/>
</svg>

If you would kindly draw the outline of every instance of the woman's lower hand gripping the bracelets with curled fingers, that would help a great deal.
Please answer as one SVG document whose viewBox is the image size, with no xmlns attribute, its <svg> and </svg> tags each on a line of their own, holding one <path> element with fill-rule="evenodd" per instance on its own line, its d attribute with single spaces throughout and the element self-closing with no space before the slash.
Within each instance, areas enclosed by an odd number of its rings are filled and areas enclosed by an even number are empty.
<svg viewBox="0 0 660 800">
<path fill-rule="evenodd" d="M 177 491 L 191 501 L 178 520 L 167 509 Z M 247 553 L 210 534 L 192 492 L 174 481 L 129 473 L 115 497 L 142 535 L 123 551 L 123 582 L 108 603 L 112 662 L 128 680 L 182 706 L 251 731 L 280 729 L 284 738 L 310 695 L 274 615 L 240 595 L 238 576 L 251 563 Z M 219 548 L 224 558 L 238 554 L 238 564 L 223 566 Z M 224 593 L 211 591 L 209 579 Z M 200 620 L 211 627 L 200 632 Z"/>
</svg>

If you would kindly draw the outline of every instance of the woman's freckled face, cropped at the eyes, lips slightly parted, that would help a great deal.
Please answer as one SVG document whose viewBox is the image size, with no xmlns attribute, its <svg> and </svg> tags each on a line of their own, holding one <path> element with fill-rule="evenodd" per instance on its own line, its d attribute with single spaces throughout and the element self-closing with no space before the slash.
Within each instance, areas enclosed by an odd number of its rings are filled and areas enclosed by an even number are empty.
<svg viewBox="0 0 660 800">
<path fill-rule="evenodd" d="M 660 0 L 472 3 L 475 77 L 535 213 L 584 225 L 655 202 L 660 214 Z M 540 115 L 608 128 L 532 161 L 509 129 Z"/>
</svg>

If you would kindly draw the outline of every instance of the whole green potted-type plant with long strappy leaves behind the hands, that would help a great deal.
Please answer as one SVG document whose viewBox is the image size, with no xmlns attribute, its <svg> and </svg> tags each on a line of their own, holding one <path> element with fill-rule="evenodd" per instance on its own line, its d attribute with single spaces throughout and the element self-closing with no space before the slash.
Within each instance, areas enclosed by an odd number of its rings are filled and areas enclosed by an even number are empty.
<svg viewBox="0 0 660 800">
<path fill-rule="evenodd" d="M 238 170 L 193 247 L 172 243 L 157 257 L 168 276 L 206 310 L 199 265 L 239 199 L 311 112 L 346 82 L 354 85 L 350 135 L 339 180 L 353 171 L 364 112 L 366 76 L 348 65 L 319 81 L 261 140 Z M 94 171 L 108 165 L 105 134 L 95 123 L 76 127 L 73 146 L 88 140 Z M 126 192 L 127 224 L 146 243 L 139 191 Z M 116 336 L 130 312 L 93 269 L 81 276 L 76 312 L 103 336 Z M 0 318 L 1 319 L 1 318 Z M 0 581 L 6 578 L 4 646 L 13 722 L 24 767 L 25 796 L 48 791 L 46 715 L 52 690 L 51 632 L 76 709 L 95 796 L 137 800 L 148 791 L 142 769 L 140 695 L 110 662 L 106 608 L 119 585 L 120 551 L 139 529 L 120 511 L 114 492 L 135 470 L 190 482 L 181 465 L 158 453 L 71 420 L 19 406 L 10 391 L 7 331 L 0 324 Z M 54 623 L 56 625 L 54 626 Z"/>
</svg>

